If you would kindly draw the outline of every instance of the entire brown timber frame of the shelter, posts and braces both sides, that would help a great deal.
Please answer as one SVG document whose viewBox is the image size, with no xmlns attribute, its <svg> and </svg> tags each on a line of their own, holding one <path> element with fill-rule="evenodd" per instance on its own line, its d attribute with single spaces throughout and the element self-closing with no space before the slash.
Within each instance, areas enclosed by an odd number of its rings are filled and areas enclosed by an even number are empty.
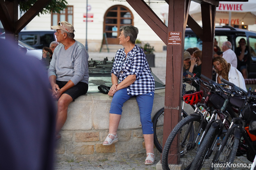
<svg viewBox="0 0 256 170">
<path fill-rule="evenodd" d="M 25 0 L 27 1 L 27 0 Z M 18 45 L 18 33 L 51 0 L 37 0 L 36 3 L 18 20 L 18 0 L 0 0 L 0 20 L 6 31 L 6 38 Z M 202 72 L 212 77 L 212 56 L 214 46 L 215 13 L 220 1 L 248 0 L 193 0 L 201 4 L 202 27 L 188 14 L 191 0 L 165 0 L 169 4 L 168 26 L 166 26 L 144 0 L 126 0 L 141 18 L 154 30 L 167 46 L 166 91 L 163 145 L 180 120 L 182 71 L 185 28 L 188 25 L 203 41 Z M 174 44 L 172 35 L 178 34 L 179 43 Z M 172 43 L 172 44 L 171 44 Z M 176 152 L 175 152 L 176 153 Z M 176 159 L 179 160 L 179 155 Z"/>
</svg>

